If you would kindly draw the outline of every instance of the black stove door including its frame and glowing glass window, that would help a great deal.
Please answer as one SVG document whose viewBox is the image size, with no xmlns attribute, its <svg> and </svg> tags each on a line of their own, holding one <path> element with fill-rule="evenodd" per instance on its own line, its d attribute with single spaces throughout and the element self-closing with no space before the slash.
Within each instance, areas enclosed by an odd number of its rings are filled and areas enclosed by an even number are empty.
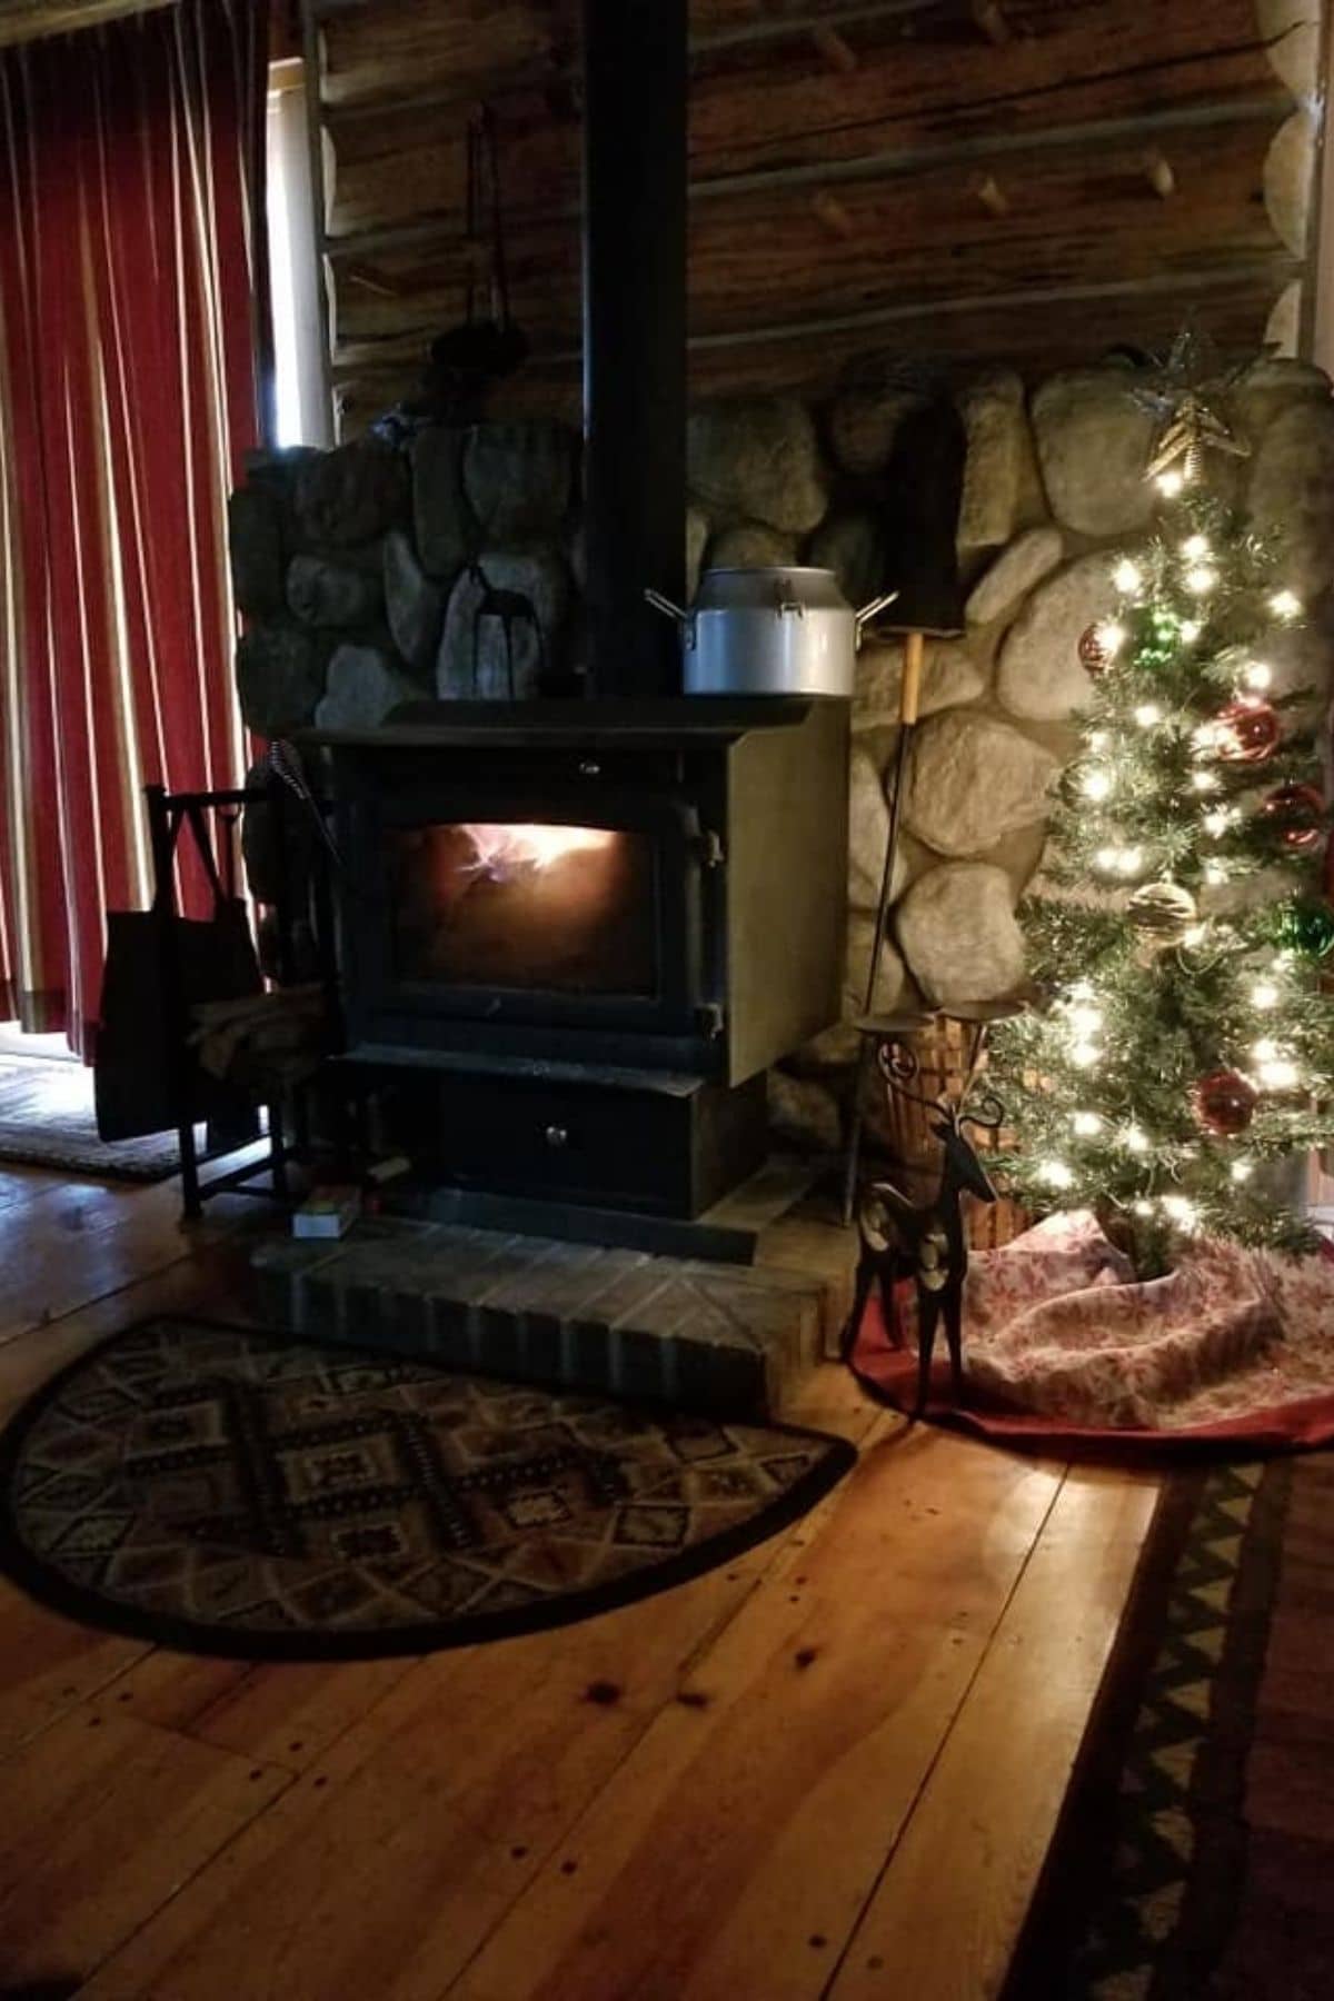
<svg viewBox="0 0 1334 2001">
<path fill-rule="evenodd" d="M 358 792 L 340 954 L 354 1041 L 698 1041 L 716 842 L 692 804 L 476 778 Z"/>
</svg>

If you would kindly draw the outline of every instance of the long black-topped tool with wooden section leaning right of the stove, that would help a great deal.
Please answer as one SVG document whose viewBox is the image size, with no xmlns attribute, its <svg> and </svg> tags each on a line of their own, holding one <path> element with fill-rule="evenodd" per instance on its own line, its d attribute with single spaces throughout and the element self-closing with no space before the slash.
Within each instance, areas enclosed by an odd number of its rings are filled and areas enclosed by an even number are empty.
<svg viewBox="0 0 1334 2001">
<path fill-rule="evenodd" d="M 894 792 L 890 796 L 890 830 L 884 846 L 876 932 L 866 968 L 866 1003 L 858 1029 L 858 1061 L 852 1079 L 852 1113 L 848 1159 L 844 1169 L 844 1225 L 852 1223 L 856 1177 L 862 1151 L 862 1097 L 874 1061 L 880 1027 L 872 1009 L 880 954 L 890 920 L 894 862 L 904 814 L 908 752 L 922 700 L 922 664 L 926 638 L 952 638 L 964 630 L 964 598 L 958 580 L 958 506 L 964 490 L 964 460 L 968 440 L 954 400 L 938 390 L 920 410 L 904 418 L 894 456 L 886 472 L 890 502 L 886 508 L 886 570 L 896 584 L 894 612 L 878 624 L 880 632 L 900 632 L 904 640 L 904 678 L 898 698 L 898 748 L 894 758 Z"/>
</svg>

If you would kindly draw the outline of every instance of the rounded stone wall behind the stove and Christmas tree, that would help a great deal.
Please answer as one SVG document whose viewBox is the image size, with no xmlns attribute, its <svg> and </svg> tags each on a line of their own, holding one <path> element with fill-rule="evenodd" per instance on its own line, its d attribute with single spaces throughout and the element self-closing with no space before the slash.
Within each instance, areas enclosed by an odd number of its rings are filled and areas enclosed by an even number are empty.
<svg viewBox="0 0 1334 2001">
<path fill-rule="evenodd" d="M 904 844 L 878 1007 L 992 998 L 1024 970 L 1014 906 L 1038 868 L 1046 802 L 1088 680 L 1080 634 L 1112 604 L 1116 554 L 1152 520 L 1152 418 L 1124 360 L 1032 390 L 990 372 L 956 390 L 968 434 L 958 520 L 966 630 L 928 644 Z M 902 530 L 896 440 L 920 372 L 866 366 L 826 408 L 792 398 L 690 418 L 690 588 L 704 564 L 808 560 L 864 602 Z M 1216 460 L 1290 550 L 1312 624 L 1272 648 L 1280 684 L 1324 688 L 1334 580 L 1334 396 L 1302 362 L 1262 360 L 1226 412 L 1250 446 Z M 398 442 L 256 458 L 232 498 L 246 722 L 374 726 L 398 702 L 580 686 L 578 440 L 554 422 L 426 426 Z M 506 658 L 486 590 L 520 592 Z M 476 652 L 474 652 L 476 646 Z M 902 646 L 868 640 L 852 710 L 846 1013 L 860 1013 L 888 832 Z M 836 1027 L 774 1079 L 790 1137 L 836 1147 L 856 1037 Z"/>
</svg>

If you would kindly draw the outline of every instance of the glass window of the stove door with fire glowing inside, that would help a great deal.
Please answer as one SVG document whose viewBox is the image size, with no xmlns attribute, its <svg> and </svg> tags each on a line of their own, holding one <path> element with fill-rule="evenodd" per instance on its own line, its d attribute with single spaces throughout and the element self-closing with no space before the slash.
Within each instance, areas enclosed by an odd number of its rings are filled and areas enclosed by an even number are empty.
<svg viewBox="0 0 1334 2001">
<path fill-rule="evenodd" d="M 434 822 L 394 836 L 410 982 L 642 994 L 658 984 L 654 848 L 610 826 Z"/>
</svg>

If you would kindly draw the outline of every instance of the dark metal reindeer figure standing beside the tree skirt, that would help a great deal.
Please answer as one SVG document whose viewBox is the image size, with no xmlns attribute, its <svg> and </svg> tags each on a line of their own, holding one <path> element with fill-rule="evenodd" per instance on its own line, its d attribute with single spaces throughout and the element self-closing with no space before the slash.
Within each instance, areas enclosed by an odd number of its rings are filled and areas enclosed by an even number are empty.
<svg viewBox="0 0 1334 2001">
<path fill-rule="evenodd" d="M 912 1279 L 918 1295 L 918 1397 L 914 1417 L 926 1409 L 930 1393 L 932 1355 L 936 1349 L 936 1329 L 944 1321 L 944 1335 L 950 1347 L 950 1375 L 954 1401 L 964 1389 L 964 1279 L 968 1277 L 968 1235 L 960 1211 L 964 1193 L 976 1195 L 984 1203 L 996 1201 L 986 1169 L 978 1161 L 964 1127 L 996 1131 L 1004 1111 L 998 1099 L 984 1095 L 970 1111 L 970 1095 L 976 1085 L 986 1027 L 978 1029 L 972 1049 L 964 1091 L 954 1103 L 948 1093 L 936 1099 L 918 1097 L 908 1089 L 918 1075 L 916 1057 L 902 1043 L 890 1039 L 876 1049 L 876 1065 L 884 1077 L 886 1091 L 910 1105 L 934 1111 L 930 1131 L 944 1149 L 940 1167 L 940 1187 L 930 1203 L 912 1203 L 892 1181 L 870 1181 L 858 1201 L 858 1235 L 862 1255 L 856 1267 L 856 1291 L 852 1315 L 844 1329 L 844 1361 L 852 1355 L 862 1327 L 862 1315 L 872 1287 L 880 1285 L 880 1305 L 884 1323 L 896 1347 L 902 1347 L 902 1329 L 894 1287 L 902 1279 Z"/>
</svg>

